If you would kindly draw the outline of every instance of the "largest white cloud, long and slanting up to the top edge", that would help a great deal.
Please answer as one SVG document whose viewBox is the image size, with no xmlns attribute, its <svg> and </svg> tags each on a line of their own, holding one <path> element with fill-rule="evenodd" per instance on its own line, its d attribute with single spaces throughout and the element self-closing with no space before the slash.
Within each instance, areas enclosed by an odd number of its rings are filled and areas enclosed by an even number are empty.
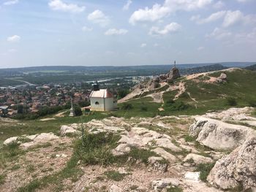
<svg viewBox="0 0 256 192">
<path fill-rule="evenodd" d="M 212 0 L 165 0 L 163 5 L 154 4 L 151 9 L 145 7 L 144 9 L 138 9 L 133 12 L 129 18 L 129 23 L 135 25 L 135 23 L 138 22 L 153 22 L 178 10 L 192 11 L 195 9 L 201 9 L 206 7 L 208 4 L 211 4 L 211 1 Z"/>
</svg>

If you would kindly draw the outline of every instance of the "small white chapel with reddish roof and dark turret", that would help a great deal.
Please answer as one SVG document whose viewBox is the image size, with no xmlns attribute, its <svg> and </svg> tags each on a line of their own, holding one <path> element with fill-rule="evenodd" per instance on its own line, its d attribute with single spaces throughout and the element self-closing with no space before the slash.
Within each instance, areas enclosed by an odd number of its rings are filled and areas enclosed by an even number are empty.
<svg viewBox="0 0 256 192">
<path fill-rule="evenodd" d="M 95 82 L 94 90 L 91 92 L 91 111 L 112 111 L 116 108 L 116 101 L 113 94 L 108 89 L 99 89 L 99 84 Z"/>
</svg>

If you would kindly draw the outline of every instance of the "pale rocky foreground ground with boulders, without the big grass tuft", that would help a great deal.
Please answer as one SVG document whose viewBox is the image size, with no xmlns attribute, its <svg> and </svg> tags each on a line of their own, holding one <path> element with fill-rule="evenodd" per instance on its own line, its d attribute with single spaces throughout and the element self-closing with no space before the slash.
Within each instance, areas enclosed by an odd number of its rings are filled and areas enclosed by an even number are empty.
<svg viewBox="0 0 256 192">
<path fill-rule="evenodd" d="M 20 187 L 29 183 L 33 185 L 26 190 L 31 191 L 256 191 L 256 118 L 250 116 L 252 110 L 111 117 L 61 126 L 58 136 L 12 137 L 4 147 L 18 143 L 19 155 L 1 164 L 0 191 L 22 191 Z M 85 164 L 83 154 L 74 166 L 78 177 L 64 177 L 63 172 L 59 176 L 74 155 L 72 141 L 81 139 L 84 131 L 95 137 L 102 132 L 117 135 L 110 153 L 116 159 L 128 155 L 126 161 Z M 139 151 L 137 156 L 135 151 Z M 58 183 L 42 185 L 47 176 Z M 39 185 L 36 181 L 40 180 Z"/>
</svg>

